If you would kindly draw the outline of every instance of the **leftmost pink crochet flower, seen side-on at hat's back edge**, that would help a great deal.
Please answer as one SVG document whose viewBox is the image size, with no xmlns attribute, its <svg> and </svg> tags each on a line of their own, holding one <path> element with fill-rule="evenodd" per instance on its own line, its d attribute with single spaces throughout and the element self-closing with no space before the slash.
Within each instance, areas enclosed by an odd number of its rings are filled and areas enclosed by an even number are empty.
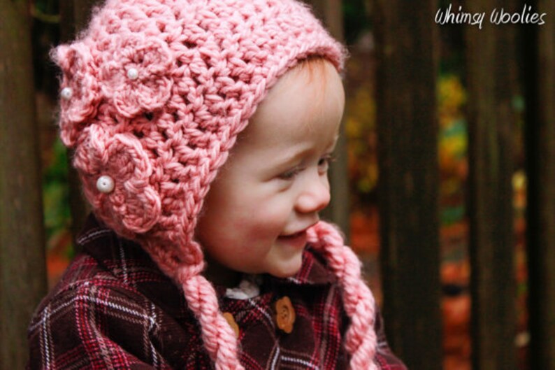
<svg viewBox="0 0 555 370">
<path fill-rule="evenodd" d="M 87 45 L 59 46 L 52 53 L 62 69 L 60 86 L 60 128 L 64 144 L 73 146 L 85 125 L 96 114 L 100 88 L 94 76 L 94 62 Z"/>
</svg>

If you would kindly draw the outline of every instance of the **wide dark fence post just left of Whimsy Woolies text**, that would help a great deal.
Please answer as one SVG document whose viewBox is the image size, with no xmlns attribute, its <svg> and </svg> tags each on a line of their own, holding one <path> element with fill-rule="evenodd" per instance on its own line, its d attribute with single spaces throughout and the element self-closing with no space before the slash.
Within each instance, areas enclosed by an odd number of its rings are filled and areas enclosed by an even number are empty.
<svg viewBox="0 0 555 370">
<path fill-rule="evenodd" d="M 411 370 L 442 369 L 433 6 L 373 8 L 385 328 Z"/>
</svg>

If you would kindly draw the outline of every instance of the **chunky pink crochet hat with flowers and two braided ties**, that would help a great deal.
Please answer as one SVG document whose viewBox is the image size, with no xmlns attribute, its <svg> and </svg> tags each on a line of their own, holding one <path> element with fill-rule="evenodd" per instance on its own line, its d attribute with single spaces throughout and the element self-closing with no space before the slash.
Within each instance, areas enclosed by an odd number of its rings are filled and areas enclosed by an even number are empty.
<svg viewBox="0 0 555 370">
<path fill-rule="evenodd" d="M 62 141 L 94 213 L 138 241 L 182 290 L 217 369 L 243 369 L 236 336 L 201 275 L 196 220 L 257 105 L 307 57 L 345 52 L 294 0 L 107 0 L 52 57 L 63 72 Z M 114 180 L 101 192 L 101 176 Z M 352 369 L 374 369 L 374 301 L 333 227 L 310 231 L 343 286 Z"/>
</svg>

